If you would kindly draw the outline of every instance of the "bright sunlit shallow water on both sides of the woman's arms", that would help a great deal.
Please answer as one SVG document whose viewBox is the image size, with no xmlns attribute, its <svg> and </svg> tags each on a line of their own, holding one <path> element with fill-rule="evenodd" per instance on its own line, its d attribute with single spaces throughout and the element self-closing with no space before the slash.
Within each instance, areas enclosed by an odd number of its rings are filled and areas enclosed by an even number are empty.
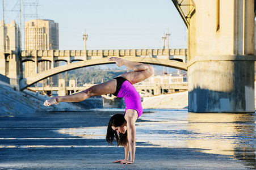
<svg viewBox="0 0 256 170">
<path fill-rule="evenodd" d="M 144 109 L 144 112 L 136 122 L 137 147 L 197 148 L 200 152 L 240 159 L 246 167 L 256 168 L 255 114 L 188 113 L 186 109 Z M 106 128 L 57 131 L 82 138 L 104 139 Z"/>
</svg>

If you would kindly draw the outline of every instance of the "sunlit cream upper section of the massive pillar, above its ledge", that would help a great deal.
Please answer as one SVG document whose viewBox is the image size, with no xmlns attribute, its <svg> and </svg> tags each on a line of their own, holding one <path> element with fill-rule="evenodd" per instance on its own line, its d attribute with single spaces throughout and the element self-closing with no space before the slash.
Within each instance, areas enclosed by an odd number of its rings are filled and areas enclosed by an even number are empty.
<svg viewBox="0 0 256 170">
<path fill-rule="evenodd" d="M 254 54 L 254 12 L 249 12 L 254 11 L 253 0 L 219 0 L 219 10 L 217 2 L 195 1 L 195 56 Z"/>
</svg>

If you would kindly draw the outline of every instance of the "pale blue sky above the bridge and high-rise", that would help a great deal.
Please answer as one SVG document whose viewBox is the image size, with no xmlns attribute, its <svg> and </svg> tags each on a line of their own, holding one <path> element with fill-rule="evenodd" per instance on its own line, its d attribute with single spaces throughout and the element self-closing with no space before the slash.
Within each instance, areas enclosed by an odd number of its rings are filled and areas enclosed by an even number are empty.
<svg viewBox="0 0 256 170">
<path fill-rule="evenodd" d="M 2 12 L 2 2 L 0 10 Z M 19 0 L 5 0 L 5 22 L 19 22 Z M 161 49 L 163 32 L 171 34 L 169 48 L 187 48 L 187 28 L 171 0 L 23 0 L 38 2 L 39 19 L 59 24 L 60 49 Z M 36 3 L 35 3 L 36 4 Z M 14 11 L 8 11 L 8 10 Z M 22 15 L 36 7 L 22 7 Z M 2 14 L 0 15 L 2 20 Z M 22 18 L 23 20 L 23 18 Z M 24 36 L 23 36 L 24 37 Z M 23 43 L 24 44 L 24 43 Z M 161 68 L 160 68 L 161 70 Z"/>
</svg>

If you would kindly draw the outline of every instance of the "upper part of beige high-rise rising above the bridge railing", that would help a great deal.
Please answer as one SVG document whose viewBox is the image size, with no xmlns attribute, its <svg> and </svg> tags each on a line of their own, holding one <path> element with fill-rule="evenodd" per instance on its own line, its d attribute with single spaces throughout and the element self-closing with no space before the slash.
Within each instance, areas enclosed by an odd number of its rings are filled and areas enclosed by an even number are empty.
<svg viewBox="0 0 256 170">
<path fill-rule="evenodd" d="M 35 19 L 25 23 L 25 50 L 58 49 L 58 23 Z"/>
</svg>

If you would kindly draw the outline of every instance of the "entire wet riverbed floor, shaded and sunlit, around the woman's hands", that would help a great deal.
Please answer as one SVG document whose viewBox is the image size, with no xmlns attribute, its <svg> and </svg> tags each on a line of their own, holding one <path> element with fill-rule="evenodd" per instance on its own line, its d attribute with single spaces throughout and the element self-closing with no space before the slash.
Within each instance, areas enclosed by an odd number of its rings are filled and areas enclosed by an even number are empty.
<svg viewBox="0 0 256 170">
<path fill-rule="evenodd" d="M 255 114 L 145 109 L 135 164 L 112 163 L 106 126 L 122 109 L 36 112 L 0 118 L 0 169 L 255 169 Z"/>
</svg>

